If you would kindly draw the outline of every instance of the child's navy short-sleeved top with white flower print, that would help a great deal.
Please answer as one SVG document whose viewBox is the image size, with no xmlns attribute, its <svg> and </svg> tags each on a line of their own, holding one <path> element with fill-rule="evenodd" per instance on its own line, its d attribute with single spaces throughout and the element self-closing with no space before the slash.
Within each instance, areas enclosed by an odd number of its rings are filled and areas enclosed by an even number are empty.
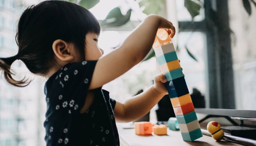
<svg viewBox="0 0 256 146">
<path fill-rule="evenodd" d="M 97 61 L 68 63 L 45 82 L 47 146 L 120 145 L 113 112 L 116 101 L 108 91 L 93 89 L 93 103 L 80 114 Z"/>
</svg>

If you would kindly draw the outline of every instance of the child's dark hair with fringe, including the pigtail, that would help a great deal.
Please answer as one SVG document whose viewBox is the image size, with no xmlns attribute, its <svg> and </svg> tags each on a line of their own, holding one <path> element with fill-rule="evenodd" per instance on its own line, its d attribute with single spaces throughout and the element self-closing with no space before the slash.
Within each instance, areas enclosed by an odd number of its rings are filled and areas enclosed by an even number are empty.
<svg viewBox="0 0 256 146">
<path fill-rule="evenodd" d="M 31 5 L 20 16 L 16 28 L 18 54 L 0 58 L 0 69 L 5 80 L 16 87 L 25 87 L 30 81 L 25 77 L 16 81 L 12 78 L 11 64 L 20 59 L 30 72 L 46 74 L 52 67 L 56 39 L 74 43 L 80 54 L 84 54 L 85 36 L 88 32 L 99 34 L 98 20 L 82 6 L 68 1 L 48 0 Z M 82 56 L 83 59 L 84 56 Z"/>
</svg>

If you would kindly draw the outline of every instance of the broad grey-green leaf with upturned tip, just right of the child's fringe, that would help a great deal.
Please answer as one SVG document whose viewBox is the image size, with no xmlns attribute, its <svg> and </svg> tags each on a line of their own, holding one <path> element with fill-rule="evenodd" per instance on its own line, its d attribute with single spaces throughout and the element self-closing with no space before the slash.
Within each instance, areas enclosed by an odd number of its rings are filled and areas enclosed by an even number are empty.
<svg viewBox="0 0 256 146">
<path fill-rule="evenodd" d="M 106 16 L 105 20 L 101 22 L 101 27 L 116 27 L 127 23 L 130 20 L 132 9 L 129 9 L 125 15 L 121 13 L 119 7 L 113 8 Z"/>
</svg>

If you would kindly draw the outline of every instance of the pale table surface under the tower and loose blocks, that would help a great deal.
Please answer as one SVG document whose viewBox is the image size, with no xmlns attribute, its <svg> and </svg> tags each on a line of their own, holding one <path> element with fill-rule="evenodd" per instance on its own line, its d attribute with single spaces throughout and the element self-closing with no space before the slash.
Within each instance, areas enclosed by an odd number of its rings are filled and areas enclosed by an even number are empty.
<svg viewBox="0 0 256 146">
<path fill-rule="evenodd" d="M 127 125 L 127 124 L 126 124 Z M 121 146 L 241 146 L 237 143 L 228 141 L 215 141 L 212 137 L 203 135 L 193 142 L 182 140 L 180 131 L 172 131 L 167 128 L 167 135 L 148 135 L 140 136 L 135 134 L 135 129 L 124 129 L 124 123 L 117 123 L 117 129 Z"/>
</svg>

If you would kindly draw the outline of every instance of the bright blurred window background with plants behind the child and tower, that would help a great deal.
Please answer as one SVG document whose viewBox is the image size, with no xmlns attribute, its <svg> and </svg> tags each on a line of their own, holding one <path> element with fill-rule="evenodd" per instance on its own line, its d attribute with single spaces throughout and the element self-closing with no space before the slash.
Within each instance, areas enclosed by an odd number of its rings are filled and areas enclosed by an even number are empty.
<svg viewBox="0 0 256 146">
<path fill-rule="evenodd" d="M 18 52 L 19 17 L 26 7 L 41 1 L 0 0 L 0 57 Z M 176 27 L 173 42 L 195 107 L 256 110 L 256 0 L 69 1 L 90 9 L 99 20 L 98 45 L 104 55 L 119 47 L 147 15 L 170 20 Z M 0 146 L 44 146 L 46 80 L 31 74 L 19 60 L 12 69 L 17 78 L 26 75 L 34 80 L 17 88 L 1 76 Z M 158 74 L 151 50 L 140 64 L 102 88 L 124 102 L 153 85 Z M 157 109 L 156 105 L 151 111 Z"/>
</svg>

